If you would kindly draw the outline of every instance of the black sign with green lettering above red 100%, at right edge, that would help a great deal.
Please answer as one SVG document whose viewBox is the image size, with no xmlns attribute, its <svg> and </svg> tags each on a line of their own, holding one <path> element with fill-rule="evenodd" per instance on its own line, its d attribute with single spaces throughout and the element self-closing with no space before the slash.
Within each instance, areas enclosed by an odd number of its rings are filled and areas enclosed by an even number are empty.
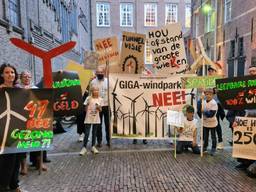
<svg viewBox="0 0 256 192">
<path fill-rule="evenodd" d="M 255 109 L 256 79 L 244 76 L 216 80 L 217 95 L 224 109 Z"/>
</svg>

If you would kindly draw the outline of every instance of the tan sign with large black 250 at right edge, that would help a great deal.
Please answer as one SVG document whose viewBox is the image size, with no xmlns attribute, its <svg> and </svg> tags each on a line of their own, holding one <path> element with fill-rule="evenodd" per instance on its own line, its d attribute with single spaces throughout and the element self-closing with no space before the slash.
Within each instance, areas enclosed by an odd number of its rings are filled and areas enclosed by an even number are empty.
<svg viewBox="0 0 256 192">
<path fill-rule="evenodd" d="M 236 117 L 235 121 L 232 156 L 256 160 L 256 118 Z"/>
</svg>

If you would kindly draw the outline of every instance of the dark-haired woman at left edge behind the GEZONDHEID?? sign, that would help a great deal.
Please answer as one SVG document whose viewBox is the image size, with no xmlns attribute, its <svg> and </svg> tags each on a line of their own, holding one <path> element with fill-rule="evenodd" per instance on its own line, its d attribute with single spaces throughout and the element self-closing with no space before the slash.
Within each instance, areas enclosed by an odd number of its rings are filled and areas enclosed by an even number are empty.
<svg viewBox="0 0 256 192">
<path fill-rule="evenodd" d="M 0 67 L 0 88 L 15 88 L 18 73 L 10 64 Z M 3 127 L 1 127 L 3 129 Z M 1 143 L 1 145 L 3 145 Z M 17 153 L 0 155 L 0 191 L 16 190 L 19 192 L 20 155 Z"/>
</svg>

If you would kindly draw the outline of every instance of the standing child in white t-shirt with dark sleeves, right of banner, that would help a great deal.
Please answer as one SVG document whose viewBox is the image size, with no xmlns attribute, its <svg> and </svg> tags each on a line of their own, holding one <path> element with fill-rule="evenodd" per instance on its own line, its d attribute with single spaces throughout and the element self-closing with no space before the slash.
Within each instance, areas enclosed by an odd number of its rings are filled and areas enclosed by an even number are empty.
<svg viewBox="0 0 256 192">
<path fill-rule="evenodd" d="M 212 138 L 212 150 L 211 155 L 213 155 L 216 152 L 216 127 L 218 125 L 218 121 L 216 118 L 216 114 L 218 111 L 218 104 L 213 99 L 214 92 L 213 89 L 206 89 L 205 90 L 205 100 L 203 100 L 203 107 L 201 104 L 201 101 L 198 102 L 197 106 L 197 113 L 198 116 L 201 118 L 203 114 L 203 139 L 204 139 L 204 152 L 207 152 L 208 147 L 208 138 L 209 138 L 209 132 L 211 132 L 211 138 Z"/>
</svg>

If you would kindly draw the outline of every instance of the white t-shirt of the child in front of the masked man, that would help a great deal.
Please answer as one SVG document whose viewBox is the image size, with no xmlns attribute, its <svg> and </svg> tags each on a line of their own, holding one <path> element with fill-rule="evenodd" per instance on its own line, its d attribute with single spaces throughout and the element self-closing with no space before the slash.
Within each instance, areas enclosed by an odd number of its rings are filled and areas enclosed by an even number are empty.
<svg viewBox="0 0 256 192">
<path fill-rule="evenodd" d="M 84 101 L 87 105 L 85 124 L 100 124 L 100 112 L 96 109 L 96 105 L 102 106 L 102 98 L 93 98 L 88 96 Z"/>
</svg>

